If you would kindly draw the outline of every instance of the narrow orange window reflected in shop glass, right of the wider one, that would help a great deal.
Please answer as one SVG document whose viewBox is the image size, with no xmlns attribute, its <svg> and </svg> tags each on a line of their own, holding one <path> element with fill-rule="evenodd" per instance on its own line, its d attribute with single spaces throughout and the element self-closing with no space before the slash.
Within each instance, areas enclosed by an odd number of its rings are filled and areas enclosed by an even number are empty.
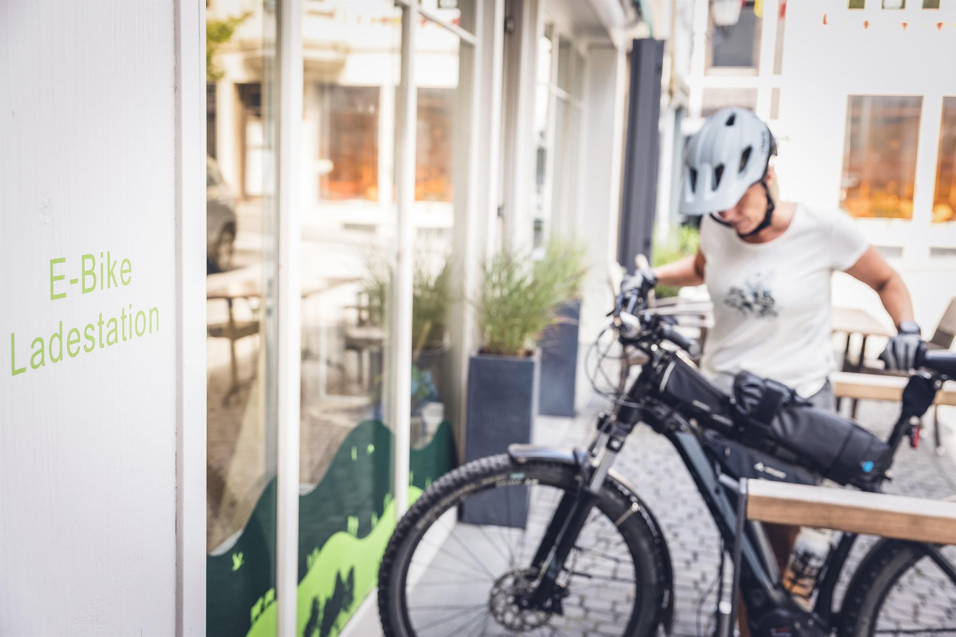
<svg viewBox="0 0 956 637">
<path fill-rule="evenodd" d="M 450 202 L 452 112 L 454 90 L 418 90 L 415 147 L 415 200 Z"/>
</svg>

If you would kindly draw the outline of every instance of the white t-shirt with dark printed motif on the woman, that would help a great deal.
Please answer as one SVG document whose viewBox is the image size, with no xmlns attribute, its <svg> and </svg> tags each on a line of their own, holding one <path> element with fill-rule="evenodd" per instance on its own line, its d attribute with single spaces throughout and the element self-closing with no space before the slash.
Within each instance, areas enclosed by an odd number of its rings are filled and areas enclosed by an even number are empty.
<svg viewBox="0 0 956 637">
<path fill-rule="evenodd" d="M 706 216 L 704 280 L 714 307 L 701 370 L 725 391 L 741 370 L 772 378 L 802 396 L 834 369 L 830 281 L 869 247 L 849 216 L 798 203 L 790 226 L 749 244 Z"/>
</svg>

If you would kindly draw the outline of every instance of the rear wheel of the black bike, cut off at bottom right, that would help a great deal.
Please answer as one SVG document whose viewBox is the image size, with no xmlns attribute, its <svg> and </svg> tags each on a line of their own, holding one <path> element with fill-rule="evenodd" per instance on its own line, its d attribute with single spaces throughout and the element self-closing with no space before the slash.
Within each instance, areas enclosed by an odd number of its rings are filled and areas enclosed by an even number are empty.
<svg viewBox="0 0 956 637">
<path fill-rule="evenodd" d="M 956 546 L 936 548 L 942 563 L 923 544 L 879 541 L 847 588 L 838 635 L 956 637 Z"/>
</svg>

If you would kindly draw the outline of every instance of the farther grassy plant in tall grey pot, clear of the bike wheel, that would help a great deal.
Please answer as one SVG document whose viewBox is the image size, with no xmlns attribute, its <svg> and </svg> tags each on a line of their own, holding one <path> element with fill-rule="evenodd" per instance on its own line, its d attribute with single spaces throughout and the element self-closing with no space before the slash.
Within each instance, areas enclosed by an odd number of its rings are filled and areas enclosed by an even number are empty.
<svg viewBox="0 0 956 637">
<path fill-rule="evenodd" d="M 555 321 L 541 334 L 540 414 L 575 414 L 578 321 L 581 282 L 587 274 L 586 248 L 575 241 L 553 239 L 537 264 L 541 275 L 553 280 L 560 302 Z"/>
</svg>

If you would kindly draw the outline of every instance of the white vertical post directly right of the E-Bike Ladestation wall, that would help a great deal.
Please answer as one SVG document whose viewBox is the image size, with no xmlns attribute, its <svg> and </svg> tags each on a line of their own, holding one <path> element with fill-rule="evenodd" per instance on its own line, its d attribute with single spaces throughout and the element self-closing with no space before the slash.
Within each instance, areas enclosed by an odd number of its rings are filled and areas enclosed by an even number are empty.
<svg viewBox="0 0 956 637">
<path fill-rule="evenodd" d="M 206 634 L 206 5 L 176 0 L 176 634 Z"/>
</svg>

